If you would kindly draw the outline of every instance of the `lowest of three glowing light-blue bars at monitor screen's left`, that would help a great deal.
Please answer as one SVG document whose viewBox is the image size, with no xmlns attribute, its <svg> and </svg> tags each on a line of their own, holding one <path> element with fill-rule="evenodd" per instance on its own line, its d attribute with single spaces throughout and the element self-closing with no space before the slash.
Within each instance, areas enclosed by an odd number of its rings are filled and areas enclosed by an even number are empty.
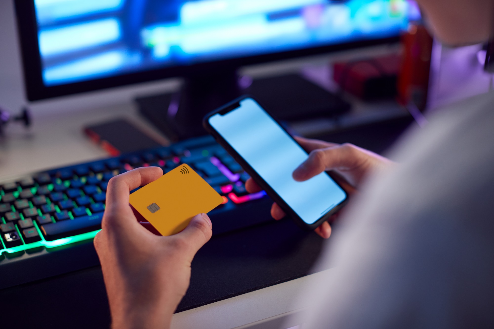
<svg viewBox="0 0 494 329">
<path fill-rule="evenodd" d="M 54 66 L 44 71 L 43 79 L 47 84 L 71 82 L 81 77 L 96 77 L 122 66 L 126 54 L 122 51 L 109 51 L 81 60 Z M 77 77 L 77 78 L 75 78 Z"/>
</svg>

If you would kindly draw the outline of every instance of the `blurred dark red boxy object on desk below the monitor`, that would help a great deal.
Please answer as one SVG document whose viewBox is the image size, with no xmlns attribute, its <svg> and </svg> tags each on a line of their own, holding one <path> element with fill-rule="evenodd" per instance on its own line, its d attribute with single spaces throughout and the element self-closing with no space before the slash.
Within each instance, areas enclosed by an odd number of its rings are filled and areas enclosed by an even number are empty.
<svg viewBox="0 0 494 329">
<path fill-rule="evenodd" d="M 333 66 L 333 79 L 342 90 L 363 100 L 394 98 L 400 63 L 397 54 L 338 62 Z"/>
</svg>

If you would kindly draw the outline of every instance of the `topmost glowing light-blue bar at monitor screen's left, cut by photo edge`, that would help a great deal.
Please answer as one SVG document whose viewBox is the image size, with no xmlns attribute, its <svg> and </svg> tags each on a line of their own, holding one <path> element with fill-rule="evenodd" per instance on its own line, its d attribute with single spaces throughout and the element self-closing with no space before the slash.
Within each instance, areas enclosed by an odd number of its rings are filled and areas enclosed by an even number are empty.
<svg viewBox="0 0 494 329">
<path fill-rule="evenodd" d="M 35 0 L 39 23 L 120 9 L 124 0 Z"/>
</svg>

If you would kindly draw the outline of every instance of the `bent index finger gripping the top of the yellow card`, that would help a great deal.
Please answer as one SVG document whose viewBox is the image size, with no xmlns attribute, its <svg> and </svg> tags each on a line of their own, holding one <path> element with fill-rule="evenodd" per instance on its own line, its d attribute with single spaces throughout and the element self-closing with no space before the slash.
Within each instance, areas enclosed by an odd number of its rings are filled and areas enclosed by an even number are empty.
<svg viewBox="0 0 494 329">
<path fill-rule="evenodd" d="M 160 167 L 141 167 L 113 177 L 108 182 L 106 207 L 112 207 L 114 204 L 127 205 L 130 191 L 151 183 L 161 176 L 163 170 Z"/>
</svg>

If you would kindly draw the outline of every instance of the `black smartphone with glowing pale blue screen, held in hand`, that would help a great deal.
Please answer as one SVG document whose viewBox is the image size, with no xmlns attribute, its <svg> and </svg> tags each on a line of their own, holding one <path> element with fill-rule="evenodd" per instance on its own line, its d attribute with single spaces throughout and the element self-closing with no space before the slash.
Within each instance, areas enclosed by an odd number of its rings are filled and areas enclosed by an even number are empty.
<svg viewBox="0 0 494 329">
<path fill-rule="evenodd" d="M 271 199 L 306 229 L 314 229 L 347 202 L 347 193 L 327 172 L 303 182 L 293 170 L 308 153 L 251 96 L 209 113 L 205 129 Z"/>
</svg>

